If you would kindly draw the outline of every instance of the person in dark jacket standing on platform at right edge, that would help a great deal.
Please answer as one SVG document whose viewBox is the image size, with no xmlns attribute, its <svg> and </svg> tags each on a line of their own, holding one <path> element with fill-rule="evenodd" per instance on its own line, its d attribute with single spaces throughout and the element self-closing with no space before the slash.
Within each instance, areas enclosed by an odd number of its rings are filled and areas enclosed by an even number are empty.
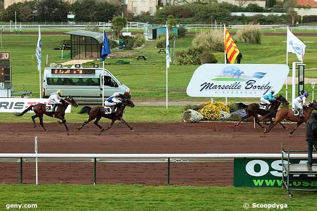
<svg viewBox="0 0 317 211">
<path fill-rule="evenodd" d="M 306 122 L 306 141 L 308 147 L 308 167 L 313 165 L 313 147 L 317 146 L 317 113 L 313 113 Z"/>
</svg>

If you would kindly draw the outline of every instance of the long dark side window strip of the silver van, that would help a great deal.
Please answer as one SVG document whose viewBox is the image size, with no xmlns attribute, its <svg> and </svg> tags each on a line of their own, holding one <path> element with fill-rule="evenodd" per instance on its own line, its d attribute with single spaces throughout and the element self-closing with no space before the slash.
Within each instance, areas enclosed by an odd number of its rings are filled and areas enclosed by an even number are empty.
<svg viewBox="0 0 317 211">
<path fill-rule="evenodd" d="M 66 78 L 66 77 L 48 77 L 47 85 L 62 86 L 99 86 L 100 78 Z"/>
</svg>

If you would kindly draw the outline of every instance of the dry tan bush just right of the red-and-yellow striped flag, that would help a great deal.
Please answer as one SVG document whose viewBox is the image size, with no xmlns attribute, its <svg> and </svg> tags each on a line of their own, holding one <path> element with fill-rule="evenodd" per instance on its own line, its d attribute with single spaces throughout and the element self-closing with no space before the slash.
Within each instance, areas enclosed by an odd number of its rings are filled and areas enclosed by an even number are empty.
<svg viewBox="0 0 317 211">
<path fill-rule="evenodd" d="M 250 23 L 245 27 L 239 28 L 236 38 L 239 42 L 260 44 L 261 34 L 259 24 L 253 25 Z"/>
</svg>

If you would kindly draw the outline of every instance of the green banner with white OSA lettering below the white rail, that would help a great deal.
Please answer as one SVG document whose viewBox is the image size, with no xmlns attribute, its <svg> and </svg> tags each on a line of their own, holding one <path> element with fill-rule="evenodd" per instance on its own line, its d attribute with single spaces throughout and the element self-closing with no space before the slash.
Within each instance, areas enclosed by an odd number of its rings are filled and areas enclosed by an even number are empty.
<svg viewBox="0 0 317 211">
<path fill-rule="evenodd" d="M 288 163 L 284 160 L 284 164 Z M 291 163 L 307 163 L 307 160 L 291 159 Z M 317 187 L 315 174 L 290 174 L 291 187 Z M 234 160 L 234 187 L 281 187 L 281 159 L 244 159 Z"/>
</svg>

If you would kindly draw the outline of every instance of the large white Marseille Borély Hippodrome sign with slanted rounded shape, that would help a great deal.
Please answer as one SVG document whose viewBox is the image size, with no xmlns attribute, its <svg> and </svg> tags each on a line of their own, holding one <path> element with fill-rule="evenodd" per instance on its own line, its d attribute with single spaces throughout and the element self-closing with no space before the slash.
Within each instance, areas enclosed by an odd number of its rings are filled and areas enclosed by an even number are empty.
<svg viewBox="0 0 317 211">
<path fill-rule="evenodd" d="M 203 64 L 194 72 L 188 96 L 261 97 L 277 94 L 288 75 L 285 64 Z"/>
</svg>

